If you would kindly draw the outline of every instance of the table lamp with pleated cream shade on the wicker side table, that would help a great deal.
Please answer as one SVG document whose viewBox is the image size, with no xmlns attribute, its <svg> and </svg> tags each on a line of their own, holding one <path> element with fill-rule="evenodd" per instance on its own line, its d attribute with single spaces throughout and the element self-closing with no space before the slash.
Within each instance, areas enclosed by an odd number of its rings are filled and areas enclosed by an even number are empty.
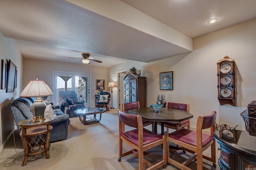
<svg viewBox="0 0 256 170">
<path fill-rule="evenodd" d="M 26 88 L 24 88 L 24 90 L 21 92 L 20 97 L 36 97 L 36 101 L 31 106 L 33 113 L 32 121 L 44 121 L 44 110 L 46 104 L 40 97 L 51 95 L 53 95 L 52 90 L 43 80 L 38 80 L 38 77 L 36 77 L 36 80 L 31 80 Z"/>
</svg>

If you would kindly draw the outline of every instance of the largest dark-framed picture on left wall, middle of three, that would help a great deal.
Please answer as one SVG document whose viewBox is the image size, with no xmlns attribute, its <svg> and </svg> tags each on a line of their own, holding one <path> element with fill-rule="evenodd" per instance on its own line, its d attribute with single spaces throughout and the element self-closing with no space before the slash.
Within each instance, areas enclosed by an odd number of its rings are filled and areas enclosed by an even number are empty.
<svg viewBox="0 0 256 170">
<path fill-rule="evenodd" d="M 16 65 L 9 60 L 7 67 L 6 93 L 14 92 L 15 88 Z"/>
</svg>

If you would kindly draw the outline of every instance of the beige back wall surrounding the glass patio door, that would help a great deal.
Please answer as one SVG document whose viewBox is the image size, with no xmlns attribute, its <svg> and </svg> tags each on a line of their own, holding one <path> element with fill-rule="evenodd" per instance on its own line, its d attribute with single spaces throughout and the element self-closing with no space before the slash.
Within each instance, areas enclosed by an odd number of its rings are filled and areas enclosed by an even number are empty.
<svg viewBox="0 0 256 170">
<path fill-rule="evenodd" d="M 90 73 L 91 77 L 91 106 L 95 106 L 95 94 L 99 91 L 96 90 L 96 79 L 105 80 L 105 91 L 108 91 L 108 68 L 89 66 L 84 64 L 73 64 L 73 63 L 60 63 L 52 61 L 24 59 L 24 78 L 23 88 L 28 84 L 30 80 L 38 79 L 44 80 L 46 84 L 53 90 L 53 71 L 66 71 L 66 72 L 79 72 L 79 73 Z M 23 89 L 22 88 L 22 89 Z M 52 101 L 52 96 L 49 96 Z"/>
</svg>

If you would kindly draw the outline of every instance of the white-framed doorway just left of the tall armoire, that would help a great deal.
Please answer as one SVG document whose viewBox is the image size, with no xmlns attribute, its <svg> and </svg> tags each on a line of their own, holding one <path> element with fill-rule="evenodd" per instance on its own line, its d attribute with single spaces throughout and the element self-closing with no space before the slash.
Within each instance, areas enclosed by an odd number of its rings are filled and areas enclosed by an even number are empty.
<svg viewBox="0 0 256 170">
<path fill-rule="evenodd" d="M 120 70 L 117 72 L 118 77 L 118 109 L 122 109 L 122 103 L 124 103 L 124 76 L 126 76 L 128 70 Z"/>
</svg>

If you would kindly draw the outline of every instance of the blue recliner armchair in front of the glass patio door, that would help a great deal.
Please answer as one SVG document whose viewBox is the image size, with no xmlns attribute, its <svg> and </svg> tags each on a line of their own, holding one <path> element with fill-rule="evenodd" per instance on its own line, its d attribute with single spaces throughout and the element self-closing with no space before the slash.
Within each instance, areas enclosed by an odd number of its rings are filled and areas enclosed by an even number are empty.
<svg viewBox="0 0 256 170">
<path fill-rule="evenodd" d="M 85 101 L 78 101 L 77 94 L 75 91 L 60 91 L 59 92 L 59 106 L 60 109 L 68 114 L 69 117 L 78 116 L 74 113 L 74 110 L 83 109 Z"/>
</svg>

